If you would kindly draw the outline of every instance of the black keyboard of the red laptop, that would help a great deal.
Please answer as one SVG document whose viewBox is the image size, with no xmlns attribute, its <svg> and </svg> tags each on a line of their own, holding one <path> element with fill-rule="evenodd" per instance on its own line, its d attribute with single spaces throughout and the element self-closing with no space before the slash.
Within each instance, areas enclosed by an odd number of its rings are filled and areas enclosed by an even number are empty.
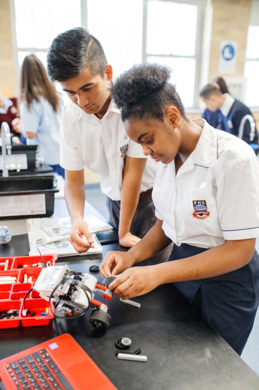
<svg viewBox="0 0 259 390">
<path fill-rule="evenodd" d="M 5 365 L 17 390 L 73 390 L 46 349 Z"/>
</svg>

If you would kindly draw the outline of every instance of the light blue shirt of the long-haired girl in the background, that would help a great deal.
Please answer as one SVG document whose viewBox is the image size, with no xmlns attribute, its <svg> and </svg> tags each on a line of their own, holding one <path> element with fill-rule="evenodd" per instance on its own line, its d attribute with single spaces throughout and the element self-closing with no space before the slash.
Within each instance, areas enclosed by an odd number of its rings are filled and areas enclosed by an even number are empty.
<svg viewBox="0 0 259 390">
<path fill-rule="evenodd" d="M 59 164 L 59 126 L 63 101 L 60 100 L 57 112 L 43 96 L 37 102 L 33 99 L 30 109 L 26 102 L 20 103 L 20 118 L 22 132 L 36 133 L 35 137 L 27 138 L 28 144 L 39 145 L 39 156 L 49 165 Z"/>
</svg>

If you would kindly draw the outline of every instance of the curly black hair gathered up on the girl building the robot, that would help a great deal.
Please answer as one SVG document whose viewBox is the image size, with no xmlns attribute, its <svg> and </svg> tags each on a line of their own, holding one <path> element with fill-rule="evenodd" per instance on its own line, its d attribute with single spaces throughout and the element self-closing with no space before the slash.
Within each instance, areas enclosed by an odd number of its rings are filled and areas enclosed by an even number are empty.
<svg viewBox="0 0 259 390">
<path fill-rule="evenodd" d="M 163 121 L 166 108 L 174 105 L 186 120 L 184 105 L 175 85 L 168 83 L 170 68 L 159 64 L 134 65 L 122 73 L 111 87 L 111 97 L 121 109 L 121 119 Z"/>
</svg>

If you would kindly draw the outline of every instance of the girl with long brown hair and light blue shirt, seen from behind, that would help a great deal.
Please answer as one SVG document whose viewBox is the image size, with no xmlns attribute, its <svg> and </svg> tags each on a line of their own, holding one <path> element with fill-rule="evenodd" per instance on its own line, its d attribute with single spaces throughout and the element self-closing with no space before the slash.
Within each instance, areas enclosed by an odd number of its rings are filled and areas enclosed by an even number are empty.
<svg viewBox="0 0 259 390">
<path fill-rule="evenodd" d="M 59 126 L 63 100 L 35 55 L 28 55 L 21 67 L 21 125 L 17 126 L 29 144 L 39 145 L 40 156 L 54 172 L 65 176 L 59 165 Z"/>
</svg>

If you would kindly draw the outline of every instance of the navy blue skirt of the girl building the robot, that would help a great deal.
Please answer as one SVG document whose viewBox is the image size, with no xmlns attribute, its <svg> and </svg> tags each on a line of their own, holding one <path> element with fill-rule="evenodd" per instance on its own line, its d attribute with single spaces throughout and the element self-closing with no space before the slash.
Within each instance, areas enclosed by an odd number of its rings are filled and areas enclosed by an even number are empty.
<svg viewBox="0 0 259 390">
<path fill-rule="evenodd" d="M 170 260 L 204 252 L 187 244 L 174 245 Z M 174 283 L 201 316 L 241 355 L 259 305 L 259 256 L 236 271 L 212 278 Z"/>
</svg>

